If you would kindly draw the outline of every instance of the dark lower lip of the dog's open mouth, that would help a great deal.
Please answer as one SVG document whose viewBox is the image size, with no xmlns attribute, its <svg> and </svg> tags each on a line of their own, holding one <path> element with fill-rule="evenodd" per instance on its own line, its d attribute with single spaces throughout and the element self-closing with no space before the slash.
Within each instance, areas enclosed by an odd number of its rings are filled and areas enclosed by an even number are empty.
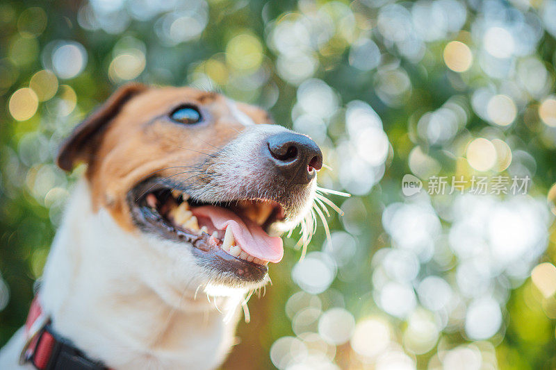
<svg viewBox="0 0 556 370">
<path fill-rule="evenodd" d="M 187 243 L 193 246 L 193 254 L 199 259 L 199 264 L 214 269 L 220 273 L 233 273 L 239 280 L 250 282 L 261 281 L 265 278 L 268 268 L 264 264 L 249 262 L 233 255 L 214 245 L 211 235 L 207 233 L 188 233 L 170 224 L 158 212 L 145 206 L 145 196 L 157 190 L 173 190 L 176 186 L 172 183 L 161 182 L 160 179 L 151 178 L 142 181 L 128 193 L 128 203 L 133 221 L 138 228 L 149 233 L 170 239 L 174 242 Z M 187 190 L 184 190 L 186 193 Z M 221 244 L 221 242 L 220 242 Z M 219 244 L 219 245 L 220 245 Z"/>
</svg>

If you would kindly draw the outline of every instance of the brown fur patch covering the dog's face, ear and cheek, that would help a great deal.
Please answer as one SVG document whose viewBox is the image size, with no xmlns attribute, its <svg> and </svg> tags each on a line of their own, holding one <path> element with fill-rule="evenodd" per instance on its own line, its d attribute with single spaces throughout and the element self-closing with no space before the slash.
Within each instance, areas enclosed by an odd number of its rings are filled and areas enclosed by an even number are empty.
<svg viewBox="0 0 556 370">
<path fill-rule="evenodd" d="M 76 160 L 88 162 L 94 209 L 107 208 L 126 230 L 134 228 L 126 196 L 137 183 L 154 174 L 177 176 L 180 172 L 203 180 L 194 167 L 245 128 L 219 94 L 190 87 L 130 86 L 118 90 L 85 120 L 73 140 L 65 142 L 58 158 L 66 170 Z M 204 122 L 184 125 L 172 121 L 170 113 L 184 103 L 197 106 Z M 238 109 L 256 123 L 270 123 L 260 108 L 238 103 Z"/>
</svg>

